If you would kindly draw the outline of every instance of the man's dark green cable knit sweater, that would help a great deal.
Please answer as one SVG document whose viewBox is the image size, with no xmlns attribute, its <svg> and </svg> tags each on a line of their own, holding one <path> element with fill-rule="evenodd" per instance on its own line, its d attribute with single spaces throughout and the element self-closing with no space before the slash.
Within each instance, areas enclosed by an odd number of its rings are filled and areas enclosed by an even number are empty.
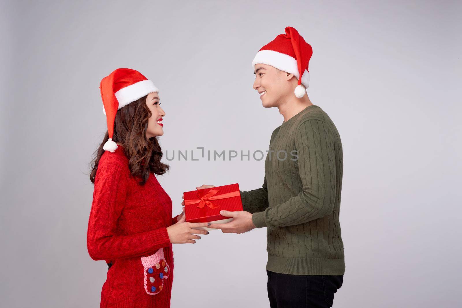
<svg viewBox="0 0 462 308">
<path fill-rule="evenodd" d="M 255 226 L 268 227 L 268 271 L 345 272 L 339 221 L 342 172 L 339 133 L 319 106 L 306 107 L 274 130 L 263 186 L 241 192 L 244 211 L 253 213 Z"/>
</svg>

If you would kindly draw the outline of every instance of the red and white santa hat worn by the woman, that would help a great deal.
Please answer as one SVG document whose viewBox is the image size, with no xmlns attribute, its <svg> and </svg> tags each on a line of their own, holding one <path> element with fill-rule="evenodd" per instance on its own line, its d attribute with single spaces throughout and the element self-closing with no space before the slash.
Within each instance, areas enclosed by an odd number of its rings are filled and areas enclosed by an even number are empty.
<svg viewBox="0 0 462 308">
<path fill-rule="evenodd" d="M 106 115 L 109 134 L 109 140 L 104 143 L 103 149 L 114 152 L 117 144 L 112 141 L 112 136 L 117 110 L 149 93 L 159 92 L 159 89 L 139 71 L 129 68 L 118 68 L 104 77 L 99 89 L 101 89 L 103 113 Z"/>
</svg>

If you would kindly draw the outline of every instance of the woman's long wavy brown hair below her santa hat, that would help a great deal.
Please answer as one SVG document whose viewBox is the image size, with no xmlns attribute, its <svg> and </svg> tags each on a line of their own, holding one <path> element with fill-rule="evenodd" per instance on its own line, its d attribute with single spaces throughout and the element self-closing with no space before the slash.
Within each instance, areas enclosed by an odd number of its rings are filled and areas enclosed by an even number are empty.
<svg viewBox="0 0 462 308">
<path fill-rule="evenodd" d="M 146 95 L 147 96 L 147 95 Z M 161 163 L 162 149 L 158 137 L 146 138 L 148 119 L 152 113 L 146 106 L 146 96 L 141 97 L 116 113 L 114 122 L 114 135 L 112 141 L 120 143 L 125 149 L 128 157 L 128 167 L 132 176 L 140 178 L 140 184 L 144 185 L 149 178 L 149 173 L 164 174 L 169 166 Z M 90 181 L 95 183 L 96 171 L 101 156 L 104 153 L 104 143 L 108 141 L 109 135 L 106 131 L 103 142 L 94 153 L 91 160 Z M 145 162 L 148 162 L 147 164 Z"/>
</svg>

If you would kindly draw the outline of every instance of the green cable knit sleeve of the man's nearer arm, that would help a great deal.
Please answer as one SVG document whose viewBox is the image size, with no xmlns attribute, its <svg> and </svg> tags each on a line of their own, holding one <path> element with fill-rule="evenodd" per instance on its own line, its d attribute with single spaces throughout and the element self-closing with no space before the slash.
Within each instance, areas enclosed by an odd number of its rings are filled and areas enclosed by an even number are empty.
<svg viewBox="0 0 462 308">
<path fill-rule="evenodd" d="M 299 225 L 329 215 L 334 209 L 336 182 L 332 133 L 324 130 L 320 120 L 305 120 L 298 126 L 295 147 L 303 189 L 284 203 L 254 213 L 252 221 L 257 228 Z"/>
</svg>

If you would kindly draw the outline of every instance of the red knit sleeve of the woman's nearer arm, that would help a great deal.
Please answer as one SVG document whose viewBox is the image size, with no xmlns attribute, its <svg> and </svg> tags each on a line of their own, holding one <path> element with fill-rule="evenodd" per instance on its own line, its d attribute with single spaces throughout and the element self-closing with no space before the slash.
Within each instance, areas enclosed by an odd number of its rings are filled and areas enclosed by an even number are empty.
<svg viewBox="0 0 462 308">
<path fill-rule="evenodd" d="M 102 164 L 101 164 L 102 163 Z M 148 255 L 170 245 L 166 228 L 131 235 L 116 235 L 128 190 L 123 166 L 100 161 L 87 231 L 87 249 L 93 260 L 112 260 Z"/>
</svg>

